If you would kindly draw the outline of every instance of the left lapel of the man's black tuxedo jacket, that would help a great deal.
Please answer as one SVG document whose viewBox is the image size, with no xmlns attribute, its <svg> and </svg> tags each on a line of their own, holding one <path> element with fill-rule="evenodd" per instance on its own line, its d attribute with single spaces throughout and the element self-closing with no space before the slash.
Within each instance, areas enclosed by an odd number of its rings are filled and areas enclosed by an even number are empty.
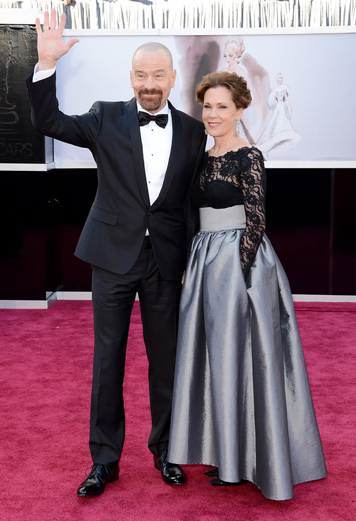
<svg viewBox="0 0 356 521">
<path fill-rule="evenodd" d="M 144 169 L 143 161 L 140 126 L 137 116 L 136 98 L 132 98 L 132 100 L 129 103 L 129 128 L 133 154 L 133 163 L 136 177 L 139 183 L 140 192 L 143 201 L 146 203 L 147 206 L 150 206 L 150 196 L 147 188 L 146 172 Z"/>
</svg>

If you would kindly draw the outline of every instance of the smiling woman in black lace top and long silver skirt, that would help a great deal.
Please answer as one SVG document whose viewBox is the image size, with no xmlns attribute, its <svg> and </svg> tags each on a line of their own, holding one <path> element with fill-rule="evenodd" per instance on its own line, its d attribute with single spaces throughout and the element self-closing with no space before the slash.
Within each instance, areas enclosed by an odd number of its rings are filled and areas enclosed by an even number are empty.
<svg viewBox="0 0 356 521">
<path fill-rule="evenodd" d="M 205 154 L 191 198 L 200 232 L 183 283 L 168 460 L 216 466 L 265 497 L 326 475 L 288 280 L 265 230 L 262 154 L 237 135 L 251 93 L 213 72 L 197 86 Z"/>
</svg>

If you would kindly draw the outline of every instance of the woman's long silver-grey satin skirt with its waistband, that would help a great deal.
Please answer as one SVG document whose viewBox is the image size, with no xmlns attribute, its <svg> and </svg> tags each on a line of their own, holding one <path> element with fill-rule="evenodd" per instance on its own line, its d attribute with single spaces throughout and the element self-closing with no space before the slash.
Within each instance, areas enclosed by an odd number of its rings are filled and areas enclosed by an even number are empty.
<svg viewBox="0 0 356 521">
<path fill-rule="evenodd" d="M 247 281 L 243 206 L 202 208 L 182 288 L 168 461 L 266 498 L 326 476 L 289 283 L 266 235 Z"/>
</svg>

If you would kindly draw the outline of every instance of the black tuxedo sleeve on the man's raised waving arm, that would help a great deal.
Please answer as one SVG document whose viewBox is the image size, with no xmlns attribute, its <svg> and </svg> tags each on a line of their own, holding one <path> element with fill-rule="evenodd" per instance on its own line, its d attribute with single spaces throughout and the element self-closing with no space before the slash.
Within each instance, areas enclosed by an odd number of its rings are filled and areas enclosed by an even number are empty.
<svg viewBox="0 0 356 521">
<path fill-rule="evenodd" d="M 31 103 L 31 121 L 41 134 L 72 145 L 91 148 L 101 128 L 102 106 L 94 103 L 81 116 L 68 116 L 59 110 L 56 97 L 56 73 L 41 81 L 27 80 Z"/>
</svg>

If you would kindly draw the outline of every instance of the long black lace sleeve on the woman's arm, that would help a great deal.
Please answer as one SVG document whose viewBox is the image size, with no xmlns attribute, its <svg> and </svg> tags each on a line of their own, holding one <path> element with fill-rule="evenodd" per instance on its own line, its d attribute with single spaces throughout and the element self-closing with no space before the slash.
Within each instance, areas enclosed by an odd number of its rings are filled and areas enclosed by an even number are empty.
<svg viewBox="0 0 356 521">
<path fill-rule="evenodd" d="M 240 258 L 245 280 L 255 259 L 265 231 L 266 172 L 262 154 L 249 148 L 241 158 L 241 189 L 246 214 L 246 228 L 241 237 Z"/>
</svg>

